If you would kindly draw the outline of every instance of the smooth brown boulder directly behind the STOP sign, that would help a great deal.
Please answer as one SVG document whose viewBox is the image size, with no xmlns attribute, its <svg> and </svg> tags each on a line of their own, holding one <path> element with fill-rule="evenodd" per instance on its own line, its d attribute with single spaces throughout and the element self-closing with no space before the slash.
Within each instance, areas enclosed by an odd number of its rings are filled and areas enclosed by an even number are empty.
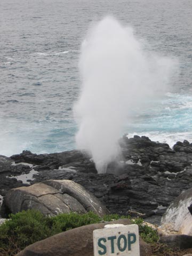
<svg viewBox="0 0 192 256">
<path fill-rule="evenodd" d="M 74 228 L 29 245 L 17 256 L 93 256 L 93 230 L 114 223 L 129 225 L 131 221 L 121 219 Z M 140 256 L 150 255 L 152 255 L 150 245 L 140 239 Z"/>
</svg>

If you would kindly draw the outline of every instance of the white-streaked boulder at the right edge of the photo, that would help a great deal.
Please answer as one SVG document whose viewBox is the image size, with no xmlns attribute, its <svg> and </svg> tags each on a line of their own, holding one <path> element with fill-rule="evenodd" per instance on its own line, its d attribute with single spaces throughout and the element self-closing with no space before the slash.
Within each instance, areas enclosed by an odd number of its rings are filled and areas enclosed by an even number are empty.
<svg viewBox="0 0 192 256">
<path fill-rule="evenodd" d="M 192 188 L 175 198 L 162 217 L 162 233 L 192 235 L 191 202 Z"/>
</svg>

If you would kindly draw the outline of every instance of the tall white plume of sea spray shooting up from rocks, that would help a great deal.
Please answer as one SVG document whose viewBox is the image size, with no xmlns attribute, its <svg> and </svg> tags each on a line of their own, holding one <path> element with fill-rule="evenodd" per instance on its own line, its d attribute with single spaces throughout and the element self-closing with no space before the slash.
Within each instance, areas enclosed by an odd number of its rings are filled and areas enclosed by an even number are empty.
<svg viewBox="0 0 192 256">
<path fill-rule="evenodd" d="M 120 153 L 118 139 L 134 108 L 164 93 L 173 61 L 143 50 L 131 27 L 107 17 L 82 44 L 82 90 L 74 106 L 78 149 L 89 153 L 98 173 Z"/>
</svg>

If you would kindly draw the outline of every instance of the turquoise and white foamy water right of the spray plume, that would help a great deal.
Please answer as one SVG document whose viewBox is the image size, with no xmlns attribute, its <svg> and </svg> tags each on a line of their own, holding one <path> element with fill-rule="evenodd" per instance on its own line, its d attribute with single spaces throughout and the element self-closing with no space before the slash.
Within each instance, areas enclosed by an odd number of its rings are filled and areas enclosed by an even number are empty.
<svg viewBox="0 0 192 256">
<path fill-rule="evenodd" d="M 132 118 L 132 124 L 124 128 L 134 135 L 146 135 L 151 140 L 168 143 L 172 147 L 177 141 L 192 142 L 192 95 L 166 93 L 151 109 L 144 110 Z"/>
</svg>

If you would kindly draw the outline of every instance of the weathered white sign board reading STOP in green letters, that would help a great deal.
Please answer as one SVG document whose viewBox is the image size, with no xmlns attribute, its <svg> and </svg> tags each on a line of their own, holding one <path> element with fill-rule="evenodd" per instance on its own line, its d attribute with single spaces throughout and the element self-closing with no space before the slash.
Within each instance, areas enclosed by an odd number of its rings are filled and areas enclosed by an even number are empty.
<svg viewBox="0 0 192 256">
<path fill-rule="evenodd" d="M 138 225 L 96 229 L 93 231 L 93 246 L 94 256 L 139 256 Z"/>
</svg>

